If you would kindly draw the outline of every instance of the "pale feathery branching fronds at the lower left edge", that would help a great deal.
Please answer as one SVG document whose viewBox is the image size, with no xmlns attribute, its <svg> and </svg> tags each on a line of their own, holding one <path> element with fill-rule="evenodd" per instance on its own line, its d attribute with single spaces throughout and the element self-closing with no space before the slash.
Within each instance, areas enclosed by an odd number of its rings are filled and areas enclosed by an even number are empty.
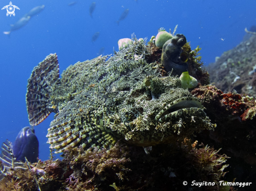
<svg viewBox="0 0 256 191">
<path fill-rule="evenodd" d="M 6 140 L 3 142 L 1 149 L 0 161 L 2 161 L 2 168 L 0 169 L 0 181 L 15 169 L 26 169 L 23 162 L 17 162 L 14 158 L 12 143 L 10 141 Z"/>
</svg>

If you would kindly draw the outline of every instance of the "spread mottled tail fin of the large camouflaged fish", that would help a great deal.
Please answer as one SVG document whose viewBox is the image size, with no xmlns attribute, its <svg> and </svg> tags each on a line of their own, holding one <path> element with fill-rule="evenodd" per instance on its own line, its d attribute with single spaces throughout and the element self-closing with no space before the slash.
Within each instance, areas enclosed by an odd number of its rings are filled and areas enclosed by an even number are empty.
<svg viewBox="0 0 256 191">
<path fill-rule="evenodd" d="M 26 103 L 29 123 L 38 125 L 50 115 L 57 113 L 52 105 L 53 85 L 60 82 L 59 62 L 56 54 L 50 54 L 36 66 L 28 79 Z"/>
</svg>

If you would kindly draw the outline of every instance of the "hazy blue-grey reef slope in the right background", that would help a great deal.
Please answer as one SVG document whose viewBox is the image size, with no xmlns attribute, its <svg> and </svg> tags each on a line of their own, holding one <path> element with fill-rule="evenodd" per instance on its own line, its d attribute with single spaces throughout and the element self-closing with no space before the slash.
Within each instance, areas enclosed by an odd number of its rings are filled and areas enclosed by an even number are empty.
<svg viewBox="0 0 256 191">
<path fill-rule="evenodd" d="M 207 67 L 210 81 L 224 92 L 256 96 L 256 35 L 247 34 L 234 49 L 224 52 Z M 250 37 L 250 38 L 249 38 Z"/>
</svg>

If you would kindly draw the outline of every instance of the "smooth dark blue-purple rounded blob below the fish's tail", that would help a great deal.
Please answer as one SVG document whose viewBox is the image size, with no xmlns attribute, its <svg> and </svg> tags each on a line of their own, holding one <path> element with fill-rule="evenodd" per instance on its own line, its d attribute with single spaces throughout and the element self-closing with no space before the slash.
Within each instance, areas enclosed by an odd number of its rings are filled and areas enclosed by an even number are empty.
<svg viewBox="0 0 256 191">
<path fill-rule="evenodd" d="M 24 127 L 20 130 L 13 144 L 13 153 L 17 161 L 25 162 L 26 157 L 31 163 L 37 162 L 39 142 L 34 129 Z"/>
</svg>

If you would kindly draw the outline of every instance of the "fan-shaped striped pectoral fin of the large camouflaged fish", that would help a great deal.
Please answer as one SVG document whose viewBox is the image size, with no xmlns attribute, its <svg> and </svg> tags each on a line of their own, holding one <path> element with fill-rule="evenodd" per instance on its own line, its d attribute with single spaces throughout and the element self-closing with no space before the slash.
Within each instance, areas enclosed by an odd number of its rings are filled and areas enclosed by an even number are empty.
<svg viewBox="0 0 256 191">
<path fill-rule="evenodd" d="M 86 92 L 86 91 L 85 91 Z M 116 139 L 112 131 L 104 127 L 100 122 L 100 116 L 93 114 L 91 106 L 87 102 L 92 100 L 89 95 L 83 93 L 70 101 L 58 116 L 51 122 L 48 128 L 48 141 L 55 153 L 81 145 L 85 150 L 110 148 L 114 146 Z"/>
</svg>

